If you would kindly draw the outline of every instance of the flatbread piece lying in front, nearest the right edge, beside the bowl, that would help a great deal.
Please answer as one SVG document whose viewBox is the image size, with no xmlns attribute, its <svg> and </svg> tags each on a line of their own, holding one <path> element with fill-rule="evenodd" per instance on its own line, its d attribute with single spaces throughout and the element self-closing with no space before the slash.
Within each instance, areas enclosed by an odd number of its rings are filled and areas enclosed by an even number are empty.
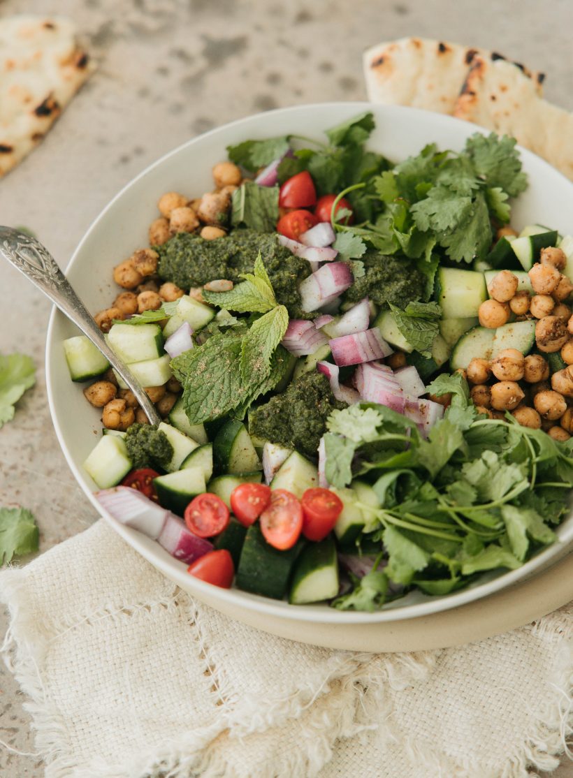
<svg viewBox="0 0 573 778">
<path fill-rule="evenodd" d="M 508 62 L 476 57 L 454 115 L 512 135 L 573 180 L 573 114 L 543 100 Z"/>
</svg>

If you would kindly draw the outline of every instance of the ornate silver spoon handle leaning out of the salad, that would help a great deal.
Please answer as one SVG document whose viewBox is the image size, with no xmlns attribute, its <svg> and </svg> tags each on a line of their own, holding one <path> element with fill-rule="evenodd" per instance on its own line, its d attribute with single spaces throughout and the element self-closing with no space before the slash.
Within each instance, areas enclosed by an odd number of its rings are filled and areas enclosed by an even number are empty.
<svg viewBox="0 0 573 778">
<path fill-rule="evenodd" d="M 149 400 L 146 391 L 135 378 L 131 370 L 121 362 L 121 359 L 110 349 L 103 333 L 93 320 L 82 300 L 76 295 L 68 279 L 62 273 L 49 251 L 36 238 L 30 237 L 12 227 L 0 226 L 0 254 L 15 268 L 26 275 L 52 303 L 65 314 L 70 321 L 90 338 L 90 341 L 105 356 L 114 370 L 135 394 L 139 405 L 151 424 L 159 424 L 160 415 L 153 402 Z"/>
</svg>

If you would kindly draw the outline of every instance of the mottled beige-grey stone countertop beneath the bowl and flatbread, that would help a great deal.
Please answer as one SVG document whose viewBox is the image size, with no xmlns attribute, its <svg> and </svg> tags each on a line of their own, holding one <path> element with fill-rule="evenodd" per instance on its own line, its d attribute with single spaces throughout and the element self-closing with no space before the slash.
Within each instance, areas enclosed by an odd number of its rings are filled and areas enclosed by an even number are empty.
<svg viewBox="0 0 573 778">
<path fill-rule="evenodd" d="M 364 99 L 361 52 L 379 40 L 416 34 L 500 51 L 546 72 L 547 98 L 573 109 L 570 0 L 54 0 L 50 8 L 75 19 L 98 68 L 40 147 L 0 180 L 0 222 L 30 227 L 62 265 L 110 198 L 188 138 L 260 110 Z M 4 0 L 0 16 L 44 9 L 42 0 Z M 45 551 L 95 517 L 47 410 L 50 306 L 6 263 L 0 292 L 0 352 L 37 363 L 36 387 L 0 430 L 0 505 L 33 510 Z M 0 669 L 0 741 L 33 752 L 23 702 Z M 0 746 L 0 774 L 39 778 L 44 767 Z M 571 762 L 554 776 L 573 778 Z"/>
</svg>

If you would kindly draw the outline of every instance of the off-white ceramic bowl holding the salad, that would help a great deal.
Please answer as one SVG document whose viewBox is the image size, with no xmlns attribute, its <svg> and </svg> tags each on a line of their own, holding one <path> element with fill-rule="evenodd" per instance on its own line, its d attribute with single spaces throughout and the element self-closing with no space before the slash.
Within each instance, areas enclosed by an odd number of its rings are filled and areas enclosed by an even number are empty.
<svg viewBox="0 0 573 778">
<path fill-rule="evenodd" d="M 79 244 L 66 271 L 69 281 L 93 313 L 108 307 L 117 293 L 112 285 L 112 268 L 132 254 L 135 248 L 147 245 L 147 229 L 149 223 L 156 219 L 156 202 L 163 192 L 182 191 L 192 197 L 209 191 L 213 186 L 211 168 L 225 158 L 227 145 L 247 138 L 287 134 L 320 139 L 325 128 L 364 110 L 371 110 L 376 118 L 376 129 L 368 145 L 395 161 L 417 154 L 429 142 L 436 142 L 441 149 L 462 149 L 466 138 L 479 130 L 473 124 L 441 114 L 370 103 L 297 106 L 234 121 L 163 156 L 128 184 L 98 216 Z M 541 223 L 561 233 L 571 232 L 573 184 L 534 154 L 525 149 L 521 153 L 530 184 L 515 202 L 512 225 L 521 229 L 526 224 Z M 76 334 L 76 328 L 54 309 L 47 332 L 47 392 L 58 440 L 79 485 L 94 508 L 157 569 L 199 600 L 237 619 L 256 623 L 262 629 L 265 629 L 265 618 L 275 624 L 283 622 L 286 626 L 282 633 L 296 638 L 295 622 L 312 622 L 317 630 L 321 625 L 344 629 L 353 624 L 378 625 L 380 622 L 427 616 L 483 598 L 531 576 L 563 556 L 573 540 L 573 516 L 570 516 L 557 531 L 558 542 L 520 569 L 508 573 L 488 573 L 472 587 L 445 597 L 412 593 L 375 613 L 340 612 L 326 605 L 288 605 L 287 602 L 261 598 L 238 589 L 212 587 L 189 576 L 185 565 L 167 554 L 156 542 L 119 525 L 93 498 L 92 490 L 96 487 L 83 471 L 82 462 L 93 448 L 96 434 L 100 433 L 100 412 L 86 403 L 82 387 L 69 380 L 62 341 Z M 105 548 L 101 549 L 101 553 L 105 554 Z"/>
</svg>

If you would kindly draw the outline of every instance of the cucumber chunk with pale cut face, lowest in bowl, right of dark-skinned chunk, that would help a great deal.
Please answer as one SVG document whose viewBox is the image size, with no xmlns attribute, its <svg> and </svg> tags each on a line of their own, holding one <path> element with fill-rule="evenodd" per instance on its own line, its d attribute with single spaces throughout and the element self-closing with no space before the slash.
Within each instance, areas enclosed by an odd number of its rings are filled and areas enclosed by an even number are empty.
<svg viewBox="0 0 573 778">
<path fill-rule="evenodd" d="M 305 605 L 336 597 L 339 590 L 338 558 L 332 538 L 310 543 L 294 565 L 289 602 Z"/>
</svg>

